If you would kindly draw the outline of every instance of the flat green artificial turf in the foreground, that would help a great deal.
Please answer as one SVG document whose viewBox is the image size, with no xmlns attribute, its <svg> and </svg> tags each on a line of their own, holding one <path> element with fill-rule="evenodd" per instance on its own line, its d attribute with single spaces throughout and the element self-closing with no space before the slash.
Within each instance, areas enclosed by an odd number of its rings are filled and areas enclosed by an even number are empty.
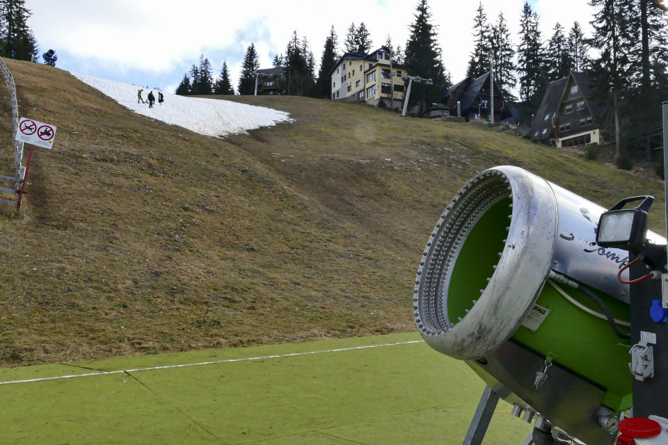
<svg viewBox="0 0 668 445">
<path fill-rule="evenodd" d="M 2 444 L 458 444 L 484 383 L 417 334 L 0 370 Z M 335 350 L 344 349 L 344 350 Z M 303 354 L 316 352 L 314 354 Z M 271 355 L 287 357 L 248 359 Z M 197 366 L 154 366 L 217 362 Z M 501 402 L 485 444 L 530 426 Z"/>
</svg>

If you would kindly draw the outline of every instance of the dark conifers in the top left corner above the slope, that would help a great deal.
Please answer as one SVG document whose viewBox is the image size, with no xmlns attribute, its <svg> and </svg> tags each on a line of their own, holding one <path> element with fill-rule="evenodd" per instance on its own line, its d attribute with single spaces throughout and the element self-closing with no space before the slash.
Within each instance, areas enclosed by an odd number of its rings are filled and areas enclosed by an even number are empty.
<svg viewBox="0 0 668 445">
<path fill-rule="evenodd" d="M 37 56 L 37 40 L 28 26 L 31 15 L 25 0 L 0 1 L 2 56 L 19 60 L 31 60 Z"/>
</svg>

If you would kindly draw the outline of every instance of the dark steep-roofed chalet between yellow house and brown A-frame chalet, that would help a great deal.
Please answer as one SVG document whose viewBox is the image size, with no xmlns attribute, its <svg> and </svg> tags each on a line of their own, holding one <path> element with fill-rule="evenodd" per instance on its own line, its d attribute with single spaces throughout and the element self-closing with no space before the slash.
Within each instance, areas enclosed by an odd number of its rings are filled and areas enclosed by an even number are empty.
<svg viewBox="0 0 668 445">
<path fill-rule="evenodd" d="M 491 120 L 490 90 L 489 72 L 477 79 L 467 76 L 463 81 L 448 88 L 440 101 L 441 104 L 433 106 L 429 115 L 430 117 L 461 116 L 467 121 L 471 119 Z M 503 94 L 494 82 L 494 120 L 500 122 L 510 116 L 511 113 Z"/>
</svg>

